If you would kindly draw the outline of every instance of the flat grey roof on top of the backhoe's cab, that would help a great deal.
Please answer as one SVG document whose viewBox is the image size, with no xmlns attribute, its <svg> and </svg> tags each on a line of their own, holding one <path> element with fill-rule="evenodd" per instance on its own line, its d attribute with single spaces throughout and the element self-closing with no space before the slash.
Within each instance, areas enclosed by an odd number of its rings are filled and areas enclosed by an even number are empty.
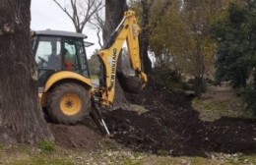
<svg viewBox="0 0 256 165">
<path fill-rule="evenodd" d="M 37 30 L 35 31 L 35 34 L 87 38 L 87 35 L 85 35 L 84 33 L 70 32 L 70 31 L 63 31 L 63 30 L 51 30 L 51 29 Z"/>
</svg>

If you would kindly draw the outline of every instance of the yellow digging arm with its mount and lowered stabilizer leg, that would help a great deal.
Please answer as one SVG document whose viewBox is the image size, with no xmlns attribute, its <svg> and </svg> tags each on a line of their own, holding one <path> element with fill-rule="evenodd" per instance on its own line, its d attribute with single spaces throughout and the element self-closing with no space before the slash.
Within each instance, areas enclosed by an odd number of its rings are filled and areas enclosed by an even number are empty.
<svg viewBox="0 0 256 165">
<path fill-rule="evenodd" d="M 148 82 L 146 74 L 142 71 L 139 45 L 140 27 L 137 25 L 135 12 L 128 10 L 118 27 L 110 36 L 108 42 L 97 54 L 100 65 L 99 87 L 94 91 L 92 101 L 93 109 L 91 115 L 96 121 L 96 125 L 102 133 L 110 135 L 101 113 L 101 107 L 111 108 L 115 93 L 115 80 L 118 58 L 122 50 L 123 43 L 126 41 L 131 68 L 135 71 L 135 79 L 129 83 L 138 83 L 139 88 L 145 87 Z M 132 77 L 134 78 L 134 77 Z M 127 83 L 127 82 L 126 82 Z M 138 87 L 137 86 L 137 87 Z M 136 87 L 136 88 L 137 88 Z"/>
</svg>

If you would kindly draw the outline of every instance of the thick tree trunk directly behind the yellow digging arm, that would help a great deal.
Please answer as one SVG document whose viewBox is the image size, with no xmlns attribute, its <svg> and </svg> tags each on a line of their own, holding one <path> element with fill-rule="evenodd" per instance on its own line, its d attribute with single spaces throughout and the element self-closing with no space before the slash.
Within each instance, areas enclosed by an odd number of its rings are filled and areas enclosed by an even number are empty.
<svg viewBox="0 0 256 165">
<path fill-rule="evenodd" d="M 124 12 L 126 11 L 126 0 L 106 0 L 105 1 L 105 26 L 103 29 L 104 41 L 111 35 L 112 31 L 121 22 Z M 120 64 L 120 56 L 118 63 Z M 117 66 L 117 72 L 121 72 L 120 65 Z M 127 107 L 128 101 L 125 98 L 124 91 L 120 86 L 118 79 L 115 82 L 114 109 Z"/>
</svg>

